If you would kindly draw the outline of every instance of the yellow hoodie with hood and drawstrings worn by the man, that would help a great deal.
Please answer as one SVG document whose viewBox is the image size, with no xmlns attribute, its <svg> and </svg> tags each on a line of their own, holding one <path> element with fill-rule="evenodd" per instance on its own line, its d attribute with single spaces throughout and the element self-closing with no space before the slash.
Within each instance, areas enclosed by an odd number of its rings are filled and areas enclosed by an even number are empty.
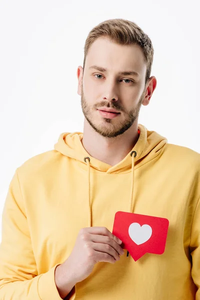
<svg viewBox="0 0 200 300">
<path fill-rule="evenodd" d="M 64 132 L 16 169 L 2 214 L 0 299 L 60 300 L 54 270 L 80 228 L 112 232 L 115 212 L 126 211 L 169 220 L 164 253 L 98 262 L 70 300 L 200 300 L 200 154 L 138 127 L 136 156 L 113 166 L 86 152 L 81 132 Z"/>
</svg>

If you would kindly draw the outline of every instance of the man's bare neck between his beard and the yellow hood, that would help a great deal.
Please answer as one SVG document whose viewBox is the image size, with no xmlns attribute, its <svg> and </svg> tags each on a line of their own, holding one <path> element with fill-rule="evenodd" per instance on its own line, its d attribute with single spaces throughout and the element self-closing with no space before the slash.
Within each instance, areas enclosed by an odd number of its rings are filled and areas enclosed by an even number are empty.
<svg viewBox="0 0 200 300">
<path fill-rule="evenodd" d="M 84 119 L 81 142 L 90 156 L 112 166 L 121 161 L 134 147 L 139 137 L 137 128 L 136 119 L 125 132 L 114 138 L 108 138 L 97 133 Z"/>
</svg>

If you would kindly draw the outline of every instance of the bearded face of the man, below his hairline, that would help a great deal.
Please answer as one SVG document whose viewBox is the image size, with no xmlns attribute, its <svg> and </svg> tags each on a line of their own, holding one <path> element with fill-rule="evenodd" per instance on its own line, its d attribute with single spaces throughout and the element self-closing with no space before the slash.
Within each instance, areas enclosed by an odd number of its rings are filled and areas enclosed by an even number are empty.
<svg viewBox="0 0 200 300">
<path fill-rule="evenodd" d="M 141 48 L 99 37 L 90 46 L 83 74 L 82 71 L 78 67 L 78 94 L 86 120 L 102 136 L 122 134 L 138 119 L 141 104 L 148 104 L 144 86 L 146 64 Z M 124 71 L 135 71 L 138 75 L 120 74 Z M 103 108 L 118 113 L 105 114 L 99 111 Z"/>
</svg>

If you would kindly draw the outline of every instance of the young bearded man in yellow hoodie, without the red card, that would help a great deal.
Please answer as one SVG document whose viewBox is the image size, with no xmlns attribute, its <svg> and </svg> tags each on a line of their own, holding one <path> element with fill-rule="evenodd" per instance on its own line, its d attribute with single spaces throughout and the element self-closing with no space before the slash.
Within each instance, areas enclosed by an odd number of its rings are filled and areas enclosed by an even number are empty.
<svg viewBox="0 0 200 300">
<path fill-rule="evenodd" d="M 112 19 L 89 32 L 84 54 L 83 133 L 62 133 L 10 182 L 0 299 L 200 300 L 200 155 L 138 124 L 156 87 L 151 41 Z M 128 255 L 112 233 L 117 211 L 167 219 L 164 252 Z"/>
</svg>

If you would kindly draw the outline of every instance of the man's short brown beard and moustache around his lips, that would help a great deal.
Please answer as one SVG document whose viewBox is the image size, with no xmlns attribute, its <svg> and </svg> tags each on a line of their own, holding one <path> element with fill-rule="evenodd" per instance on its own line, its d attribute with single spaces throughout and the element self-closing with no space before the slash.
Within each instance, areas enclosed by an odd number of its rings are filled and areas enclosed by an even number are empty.
<svg viewBox="0 0 200 300">
<path fill-rule="evenodd" d="M 83 87 L 82 87 L 82 89 L 81 89 L 82 112 L 84 114 L 84 117 L 90 124 L 90 126 L 97 133 L 99 133 L 102 136 L 109 137 L 109 138 L 116 137 L 116 136 L 122 134 L 123 132 L 125 132 L 137 119 L 144 94 L 145 94 L 145 89 L 143 90 L 142 95 L 140 96 L 137 106 L 132 108 L 129 112 L 126 112 L 124 110 L 124 108 L 119 106 L 119 104 L 117 102 L 112 102 L 112 104 L 110 104 L 110 102 L 101 101 L 92 106 L 89 106 L 84 97 L 84 92 L 83 92 Z M 92 116 L 92 111 L 95 111 L 97 107 L 99 108 L 102 106 L 116 109 L 119 112 L 122 111 L 125 115 L 125 119 L 118 120 L 117 123 L 116 122 L 112 123 L 111 118 L 103 118 L 103 120 L 100 124 L 96 124 L 96 120 L 94 119 L 94 116 Z M 116 118 L 117 118 L 117 116 L 116 116 Z"/>
</svg>

